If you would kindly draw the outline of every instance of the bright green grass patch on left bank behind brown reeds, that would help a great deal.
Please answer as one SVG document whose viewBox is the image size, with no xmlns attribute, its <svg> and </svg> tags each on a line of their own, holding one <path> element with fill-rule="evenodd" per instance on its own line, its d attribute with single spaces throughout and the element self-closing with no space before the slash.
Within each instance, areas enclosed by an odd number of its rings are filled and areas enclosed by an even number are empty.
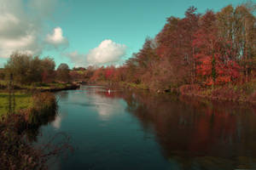
<svg viewBox="0 0 256 170">
<path fill-rule="evenodd" d="M 15 112 L 32 106 L 31 94 L 15 93 Z M 0 116 L 9 111 L 9 94 L 0 93 Z"/>
</svg>

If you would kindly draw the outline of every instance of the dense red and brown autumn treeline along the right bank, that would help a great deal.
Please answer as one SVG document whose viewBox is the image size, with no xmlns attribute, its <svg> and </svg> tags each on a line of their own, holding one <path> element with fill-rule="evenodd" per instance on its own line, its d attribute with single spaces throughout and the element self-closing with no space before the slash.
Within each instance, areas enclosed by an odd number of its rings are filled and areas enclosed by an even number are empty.
<svg viewBox="0 0 256 170">
<path fill-rule="evenodd" d="M 253 81 L 256 69 L 255 5 L 229 5 L 205 14 L 188 8 L 170 17 L 154 38 L 125 64 L 96 69 L 91 81 L 132 82 L 150 89 L 236 85 Z"/>
</svg>

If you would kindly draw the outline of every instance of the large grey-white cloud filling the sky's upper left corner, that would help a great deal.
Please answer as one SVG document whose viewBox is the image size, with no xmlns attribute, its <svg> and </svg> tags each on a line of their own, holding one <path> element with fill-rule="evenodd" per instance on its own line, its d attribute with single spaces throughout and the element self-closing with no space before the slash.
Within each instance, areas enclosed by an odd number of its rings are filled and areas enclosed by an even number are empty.
<svg viewBox="0 0 256 170">
<path fill-rule="evenodd" d="M 44 21 L 49 20 L 57 0 L 0 0 L 0 58 L 15 51 L 41 54 L 45 47 Z M 57 30 L 58 33 L 62 31 Z M 61 43 L 67 39 L 61 37 Z M 56 46 L 57 43 L 51 44 Z"/>
</svg>

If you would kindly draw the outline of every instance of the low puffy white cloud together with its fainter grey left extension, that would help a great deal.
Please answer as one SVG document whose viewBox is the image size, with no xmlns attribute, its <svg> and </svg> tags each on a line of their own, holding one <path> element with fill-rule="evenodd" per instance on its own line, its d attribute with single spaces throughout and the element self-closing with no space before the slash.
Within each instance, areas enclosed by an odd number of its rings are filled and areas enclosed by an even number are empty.
<svg viewBox="0 0 256 170">
<path fill-rule="evenodd" d="M 125 55 L 126 46 L 112 40 L 104 40 L 88 54 L 79 54 L 77 51 L 64 54 L 74 66 L 88 65 L 119 65 Z"/>
</svg>

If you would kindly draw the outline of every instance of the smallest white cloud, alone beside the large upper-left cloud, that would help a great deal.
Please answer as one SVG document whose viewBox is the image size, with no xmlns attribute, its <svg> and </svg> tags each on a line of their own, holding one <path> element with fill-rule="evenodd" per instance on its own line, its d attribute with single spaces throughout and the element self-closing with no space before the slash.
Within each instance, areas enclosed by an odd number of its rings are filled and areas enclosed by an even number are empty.
<svg viewBox="0 0 256 170">
<path fill-rule="evenodd" d="M 46 37 L 46 42 L 54 45 L 55 48 L 68 45 L 67 38 L 63 37 L 61 27 L 56 27 L 51 34 L 48 34 Z"/>
</svg>

